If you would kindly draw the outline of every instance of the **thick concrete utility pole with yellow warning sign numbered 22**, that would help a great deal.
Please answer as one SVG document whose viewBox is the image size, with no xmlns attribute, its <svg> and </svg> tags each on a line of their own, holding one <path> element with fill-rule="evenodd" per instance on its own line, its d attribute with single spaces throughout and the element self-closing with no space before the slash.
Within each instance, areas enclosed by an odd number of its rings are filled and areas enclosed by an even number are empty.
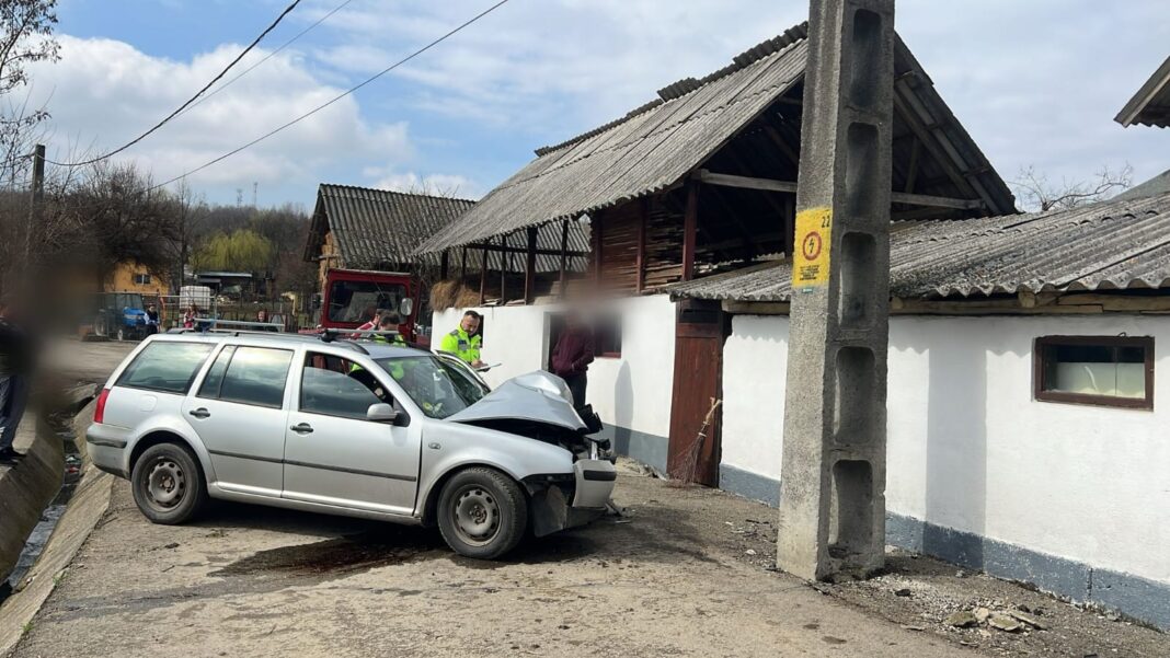
<svg viewBox="0 0 1170 658">
<path fill-rule="evenodd" d="M 777 565 L 867 575 L 886 545 L 894 0 L 812 0 Z"/>
</svg>

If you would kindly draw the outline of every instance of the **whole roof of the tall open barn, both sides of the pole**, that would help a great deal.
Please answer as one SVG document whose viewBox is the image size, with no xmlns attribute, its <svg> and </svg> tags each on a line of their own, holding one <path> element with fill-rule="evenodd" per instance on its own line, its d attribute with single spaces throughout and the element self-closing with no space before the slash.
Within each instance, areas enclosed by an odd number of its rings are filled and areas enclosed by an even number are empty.
<svg viewBox="0 0 1170 658">
<path fill-rule="evenodd" d="M 425 242 L 419 252 L 482 242 L 501 234 L 577 217 L 672 187 L 804 78 L 807 23 L 765 41 L 701 79 L 684 78 L 625 117 L 562 144 L 505 180 L 457 229 Z M 994 213 L 1014 210 L 1007 186 L 938 97 L 909 49 L 897 40 L 896 85 L 923 116 L 938 151 L 969 173 Z"/>
</svg>

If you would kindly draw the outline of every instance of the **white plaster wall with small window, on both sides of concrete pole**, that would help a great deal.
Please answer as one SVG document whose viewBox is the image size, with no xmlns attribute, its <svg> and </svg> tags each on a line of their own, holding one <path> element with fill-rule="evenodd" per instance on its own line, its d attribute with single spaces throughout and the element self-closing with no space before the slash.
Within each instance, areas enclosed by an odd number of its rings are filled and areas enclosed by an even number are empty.
<svg viewBox="0 0 1170 658">
<path fill-rule="evenodd" d="M 787 318 L 739 316 L 724 351 L 723 463 L 780 475 Z M 1032 400 L 1032 342 L 1152 335 L 1155 410 Z M 763 379 L 764 369 L 777 376 Z M 1163 383 L 1164 382 L 1164 383 Z M 1170 582 L 1170 319 L 895 317 L 887 506 Z"/>
</svg>

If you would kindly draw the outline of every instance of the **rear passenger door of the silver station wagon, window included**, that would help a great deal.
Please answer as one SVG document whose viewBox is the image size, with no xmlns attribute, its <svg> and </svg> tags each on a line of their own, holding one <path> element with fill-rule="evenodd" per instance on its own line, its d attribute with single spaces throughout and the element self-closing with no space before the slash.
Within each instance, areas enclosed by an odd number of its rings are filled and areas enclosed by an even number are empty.
<svg viewBox="0 0 1170 658">
<path fill-rule="evenodd" d="M 226 345 L 188 396 L 184 417 L 211 453 L 219 486 L 278 498 L 291 349 Z"/>
</svg>

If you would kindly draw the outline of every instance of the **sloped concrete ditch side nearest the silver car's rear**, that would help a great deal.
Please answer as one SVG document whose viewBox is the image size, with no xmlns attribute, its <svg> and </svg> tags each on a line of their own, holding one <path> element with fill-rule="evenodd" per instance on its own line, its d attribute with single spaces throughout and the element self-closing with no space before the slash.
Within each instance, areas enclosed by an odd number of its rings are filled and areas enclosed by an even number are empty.
<svg viewBox="0 0 1170 658">
<path fill-rule="evenodd" d="M 81 450 L 83 459 L 82 478 L 77 483 L 74 497 L 64 514 L 61 515 L 61 520 L 57 521 L 57 527 L 53 531 L 53 536 L 49 538 L 41 556 L 21 582 L 21 589 L 5 601 L 4 605 L 0 605 L 0 656 L 7 656 L 20 642 L 25 625 L 41 609 L 60 577 L 64 577 L 69 562 L 110 506 L 113 477 L 98 471 L 85 455 L 84 431 L 92 418 L 94 404 L 90 403 L 77 414 L 74 422 L 77 448 Z M 60 441 L 43 441 L 42 443 L 56 444 L 60 457 Z M 28 459 L 25 460 L 28 462 Z M 63 462 L 63 457 L 61 459 Z M 20 467 L 23 469 L 25 465 L 22 464 Z M 57 486 L 60 486 L 62 472 L 60 465 L 55 466 L 55 472 L 58 479 Z M 56 489 L 53 491 L 55 492 Z M 49 498 L 51 499 L 51 492 Z M 37 515 L 40 515 L 41 507 L 36 508 Z"/>
</svg>

